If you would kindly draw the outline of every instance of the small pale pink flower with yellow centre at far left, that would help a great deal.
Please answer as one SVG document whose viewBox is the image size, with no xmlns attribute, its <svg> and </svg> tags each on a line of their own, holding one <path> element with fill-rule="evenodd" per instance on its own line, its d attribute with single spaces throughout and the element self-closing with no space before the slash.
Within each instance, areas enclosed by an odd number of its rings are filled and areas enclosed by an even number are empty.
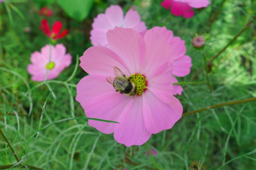
<svg viewBox="0 0 256 170">
<path fill-rule="evenodd" d="M 71 55 L 66 54 L 63 44 L 56 46 L 44 46 L 41 52 L 31 54 L 31 64 L 27 66 L 27 71 L 32 75 L 35 82 L 42 82 L 44 79 L 55 79 L 61 71 L 71 64 Z"/>
</svg>

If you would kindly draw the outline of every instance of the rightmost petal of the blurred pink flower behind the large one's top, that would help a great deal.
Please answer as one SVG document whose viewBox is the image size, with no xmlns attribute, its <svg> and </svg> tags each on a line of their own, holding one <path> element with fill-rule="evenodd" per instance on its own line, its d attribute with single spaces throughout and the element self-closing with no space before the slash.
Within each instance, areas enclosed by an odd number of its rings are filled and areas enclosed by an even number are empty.
<svg viewBox="0 0 256 170">
<path fill-rule="evenodd" d="M 137 32 L 147 29 L 144 22 L 141 22 L 141 16 L 137 11 L 129 10 L 123 19 L 123 28 L 134 28 Z"/>
</svg>

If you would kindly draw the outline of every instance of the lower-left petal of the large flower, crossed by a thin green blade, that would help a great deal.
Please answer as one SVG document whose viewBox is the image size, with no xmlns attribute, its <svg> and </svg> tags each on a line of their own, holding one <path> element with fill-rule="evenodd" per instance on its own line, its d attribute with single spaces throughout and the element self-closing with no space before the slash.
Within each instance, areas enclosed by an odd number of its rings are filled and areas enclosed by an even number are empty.
<svg viewBox="0 0 256 170">
<path fill-rule="evenodd" d="M 119 94 L 119 92 L 105 92 L 94 97 L 85 108 L 85 114 L 90 118 L 100 118 L 102 120 L 117 121 L 125 109 L 127 103 L 133 100 L 133 97 Z M 102 133 L 110 134 L 119 124 L 89 120 L 89 126 L 96 128 Z"/>
</svg>

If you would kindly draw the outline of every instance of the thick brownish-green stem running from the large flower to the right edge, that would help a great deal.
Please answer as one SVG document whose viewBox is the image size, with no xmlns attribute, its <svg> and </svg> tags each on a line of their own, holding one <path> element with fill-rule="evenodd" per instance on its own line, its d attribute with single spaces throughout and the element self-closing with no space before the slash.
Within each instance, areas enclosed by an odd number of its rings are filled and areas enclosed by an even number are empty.
<svg viewBox="0 0 256 170">
<path fill-rule="evenodd" d="M 211 105 L 211 106 L 209 106 L 209 107 L 201 108 L 201 109 L 198 109 L 198 110 L 196 110 L 196 111 L 191 111 L 191 112 L 183 113 L 182 116 L 188 116 L 189 114 L 198 113 L 198 112 L 203 112 L 203 111 L 207 111 L 207 110 L 209 110 L 209 109 L 214 109 L 214 108 L 223 107 L 223 106 L 225 106 L 225 105 L 233 105 L 233 104 L 247 103 L 247 102 L 250 102 L 250 101 L 256 101 L 256 97 L 252 97 L 252 98 L 249 98 L 249 99 L 243 99 L 243 100 L 237 100 L 237 101 L 228 101 L 228 102 L 225 102 L 225 103 L 220 103 L 220 104 L 216 104 L 216 105 Z"/>
</svg>

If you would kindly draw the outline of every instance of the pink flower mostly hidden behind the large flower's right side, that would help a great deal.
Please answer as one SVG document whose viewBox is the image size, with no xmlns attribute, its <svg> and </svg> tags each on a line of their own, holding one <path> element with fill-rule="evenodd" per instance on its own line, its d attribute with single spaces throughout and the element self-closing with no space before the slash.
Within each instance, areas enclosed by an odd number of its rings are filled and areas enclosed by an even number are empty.
<svg viewBox="0 0 256 170">
<path fill-rule="evenodd" d="M 191 58 L 185 56 L 187 48 L 185 47 L 185 41 L 181 40 L 180 37 L 174 37 L 172 31 L 166 29 L 166 27 L 153 27 L 155 31 L 158 31 L 172 46 L 174 49 L 174 70 L 172 71 L 173 83 L 177 83 L 178 80 L 175 76 L 186 76 L 190 73 L 190 68 L 192 66 Z M 142 36 L 147 31 L 141 33 Z M 175 76 L 174 76 L 175 75 Z M 174 95 L 181 95 L 183 88 L 180 85 L 174 85 Z"/>
</svg>

